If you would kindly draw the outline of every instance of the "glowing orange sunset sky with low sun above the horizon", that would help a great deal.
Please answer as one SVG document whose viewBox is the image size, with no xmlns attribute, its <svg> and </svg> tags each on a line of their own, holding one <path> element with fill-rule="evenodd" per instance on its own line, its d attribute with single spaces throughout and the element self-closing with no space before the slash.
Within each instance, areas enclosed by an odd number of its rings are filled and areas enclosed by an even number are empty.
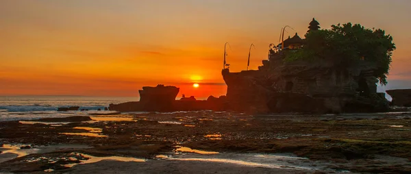
<svg viewBox="0 0 411 174">
<path fill-rule="evenodd" d="M 142 86 L 180 88 L 195 97 L 225 95 L 230 71 L 258 69 L 270 43 L 322 28 L 360 23 L 397 45 L 388 85 L 411 88 L 408 0 L 59 0 L 0 1 L 0 95 L 138 96 Z M 199 83 L 199 88 L 192 88 Z"/>
</svg>

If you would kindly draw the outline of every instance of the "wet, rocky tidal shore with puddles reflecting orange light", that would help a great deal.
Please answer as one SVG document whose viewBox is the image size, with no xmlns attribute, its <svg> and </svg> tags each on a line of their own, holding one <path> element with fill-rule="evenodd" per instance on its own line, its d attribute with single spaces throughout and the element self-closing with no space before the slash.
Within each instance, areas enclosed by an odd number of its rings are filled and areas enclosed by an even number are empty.
<svg viewBox="0 0 411 174">
<path fill-rule="evenodd" d="M 0 123 L 0 144 L 31 148 L 14 149 L 20 151 L 18 154 L 30 153 L 13 157 L 12 149 L 2 147 L 0 160 L 6 161 L 0 163 L 0 172 L 133 173 L 132 169 L 139 166 L 140 173 L 179 173 L 179 167 L 187 164 L 193 165 L 190 172 L 200 172 L 196 166 L 216 166 L 210 171 L 410 173 L 410 120 L 408 112 L 251 116 L 197 111 L 90 115 L 32 123 L 8 121 Z M 59 145 L 68 146 L 54 148 Z M 180 147 L 191 150 L 184 152 Z M 47 148 L 54 149 L 42 151 Z M 215 153 L 194 155 L 204 151 Z M 251 158 L 247 155 L 250 153 L 257 155 Z M 278 153 L 301 159 L 267 164 L 261 159 L 252 161 Z M 132 158 L 134 162 L 108 162 L 113 156 Z M 183 161 L 175 162 L 176 158 Z M 216 158 L 225 160 L 212 160 Z M 103 167 L 106 164 L 116 165 L 110 169 Z M 283 167 L 278 169 L 274 164 Z"/>
</svg>

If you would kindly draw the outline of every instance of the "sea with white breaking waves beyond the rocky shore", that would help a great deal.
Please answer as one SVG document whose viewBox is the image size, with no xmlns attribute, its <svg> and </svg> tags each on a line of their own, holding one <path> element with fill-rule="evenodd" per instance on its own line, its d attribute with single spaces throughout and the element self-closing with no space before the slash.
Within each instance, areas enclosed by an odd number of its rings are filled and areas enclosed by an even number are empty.
<svg viewBox="0 0 411 174">
<path fill-rule="evenodd" d="M 83 96 L 2 96 L 0 121 L 32 120 L 49 117 L 81 116 L 105 113 L 110 103 L 138 101 L 139 97 L 83 97 Z M 78 111 L 58 112 L 59 107 L 79 106 Z M 88 111 L 80 111 L 80 110 Z M 101 111 L 98 111 L 101 109 Z"/>
</svg>

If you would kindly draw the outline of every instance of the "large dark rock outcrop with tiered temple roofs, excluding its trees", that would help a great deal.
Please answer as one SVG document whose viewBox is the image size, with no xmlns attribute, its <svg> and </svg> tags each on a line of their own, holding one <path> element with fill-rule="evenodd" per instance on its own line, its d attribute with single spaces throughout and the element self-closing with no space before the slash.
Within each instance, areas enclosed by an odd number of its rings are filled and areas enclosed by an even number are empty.
<svg viewBox="0 0 411 174">
<path fill-rule="evenodd" d="M 318 30 L 314 18 L 308 32 Z M 283 39 L 284 40 L 284 39 Z M 327 60 L 286 61 L 290 51 L 304 47 L 298 34 L 269 50 L 258 70 L 222 75 L 227 84 L 229 108 L 245 112 L 380 112 L 388 110 L 384 93 L 377 93 L 374 64 L 336 69 Z"/>
</svg>

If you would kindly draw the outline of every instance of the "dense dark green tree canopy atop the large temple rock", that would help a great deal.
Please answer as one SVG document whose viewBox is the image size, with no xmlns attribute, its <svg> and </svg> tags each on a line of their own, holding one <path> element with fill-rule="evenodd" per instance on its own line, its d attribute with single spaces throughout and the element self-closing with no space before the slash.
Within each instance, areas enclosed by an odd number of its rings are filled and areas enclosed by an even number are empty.
<svg viewBox="0 0 411 174">
<path fill-rule="evenodd" d="M 380 84 L 385 85 L 394 50 L 393 37 L 386 35 L 384 30 L 346 23 L 308 32 L 303 48 L 288 53 L 286 61 L 329 60 L 336 67 L 353 66 L 365 61 L 375 65 L 374 75 Z"/>
</svg>

